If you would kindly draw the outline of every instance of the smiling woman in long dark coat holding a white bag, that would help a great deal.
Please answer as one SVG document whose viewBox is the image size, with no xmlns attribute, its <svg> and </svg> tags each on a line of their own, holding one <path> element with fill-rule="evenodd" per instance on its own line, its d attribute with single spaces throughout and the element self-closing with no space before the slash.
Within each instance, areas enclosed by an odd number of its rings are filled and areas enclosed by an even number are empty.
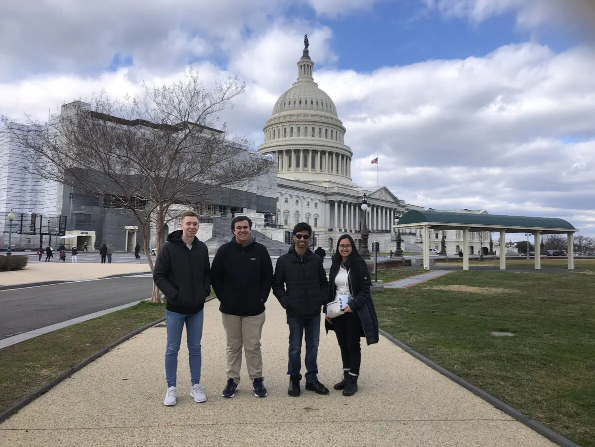
<svg viewBox="0 0 595 447">
<path fill-rule="evenodd" d="M 350 295 L 345 313 L 332 319 L 327 317 L 324 325 L 327 331 L 335 331 L 343 361 L 343 380 L 334 389 L 343 390 L 343 396 L 353 396 L 358 390 L 362 360 L 359 339 L 365 337 L 368 345 L 378 343 L 378 318 L 370 294 L 368 266 L 348 234 L 337 241 L 328 285 L 329 302 L 337 295 Z"/>
</svg>

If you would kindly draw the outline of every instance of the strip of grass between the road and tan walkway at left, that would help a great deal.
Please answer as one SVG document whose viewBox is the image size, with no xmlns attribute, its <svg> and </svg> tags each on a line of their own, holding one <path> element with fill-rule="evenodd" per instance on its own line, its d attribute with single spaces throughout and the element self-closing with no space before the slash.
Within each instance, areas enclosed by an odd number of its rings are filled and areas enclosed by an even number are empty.
<svg viewBox="0 0 595 447">
<path fill-rule="evenodd" d="M 131 331 L 165 316 L 142 302 L 0 350 L 0 412 Z"/>
</svg>

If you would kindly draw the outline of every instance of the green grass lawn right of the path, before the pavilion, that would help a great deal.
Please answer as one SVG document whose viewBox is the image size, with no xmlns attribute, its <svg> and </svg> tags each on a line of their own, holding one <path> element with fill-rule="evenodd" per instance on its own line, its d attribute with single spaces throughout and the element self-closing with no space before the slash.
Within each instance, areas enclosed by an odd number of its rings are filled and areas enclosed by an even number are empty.
<svg viewBox="0 0 595 447">
<path fill-rule="evenodd" d="M 373 297 L 380 327 L 394 337 L 550 429 L 595 446 L 595 275 L 460 271 Z"/>
</svg>

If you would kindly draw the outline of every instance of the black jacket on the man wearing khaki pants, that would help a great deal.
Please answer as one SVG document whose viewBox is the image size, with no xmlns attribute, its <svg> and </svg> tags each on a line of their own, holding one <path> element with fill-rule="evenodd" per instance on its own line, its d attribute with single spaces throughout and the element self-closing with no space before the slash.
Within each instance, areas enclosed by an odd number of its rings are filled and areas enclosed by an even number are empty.
<svg viewBox="0 0 595 447">
<path fill-rule="evenodd" d="M 242 247 L 233 237 L 215 254 L 211 282 L 221 302 L 221 312 L 237 316 L 260 315 L 273 283 L 273 263 L 267 247 L 254 239 Z"/>
</svg>

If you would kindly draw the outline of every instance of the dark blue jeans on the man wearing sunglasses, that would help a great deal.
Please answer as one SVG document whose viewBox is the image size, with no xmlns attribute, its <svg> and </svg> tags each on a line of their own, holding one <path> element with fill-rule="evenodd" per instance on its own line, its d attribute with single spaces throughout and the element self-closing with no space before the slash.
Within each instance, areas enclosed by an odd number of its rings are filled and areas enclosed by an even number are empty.
<svg viewBox="0 0 595 447">
<path fill-rule="evenodd" d="M 289 325 L 289 365 L 287 374 L 297 375 L 302 368 L 302 337 L 306 340 L 306 382 L 318 380 L 318 342 L 320 342 L 320 313 L 313 318 L 287 316 Z"/>
</svg>

